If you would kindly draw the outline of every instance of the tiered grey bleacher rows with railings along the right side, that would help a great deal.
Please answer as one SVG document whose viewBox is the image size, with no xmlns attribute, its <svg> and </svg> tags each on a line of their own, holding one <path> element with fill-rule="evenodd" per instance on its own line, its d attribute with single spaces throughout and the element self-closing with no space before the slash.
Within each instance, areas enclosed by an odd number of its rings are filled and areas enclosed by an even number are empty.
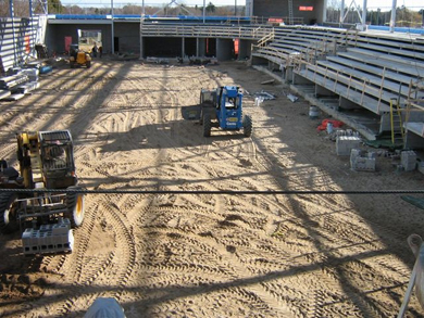
<svg viewBox="0 0 424 318">
<path fill-rule="evenodd" d="M 286 28 L 276 30 L 273 41 L 257 48 L 252 56 L 291 65 L 291 78 L 286 81 L 295 86 L 310 82 L 315 94 L 324 91 L 339 97 L 340 107 L 347 101 L 349 107 L 354 104 L 379 116 L 378 132 L 387 130 L 390 102 L 399 101 L 403 120 L 408 118 L 403 127 L 422 138 L 419 143 L 424 148 L 424 106 L 411 103 L 412 99 L 424 101 L 424 89 L 419 87 L 424 82 L 424 41 L 417 36 Z M 415 112 L 410 113 L 411 105 Z"/>
</svg>

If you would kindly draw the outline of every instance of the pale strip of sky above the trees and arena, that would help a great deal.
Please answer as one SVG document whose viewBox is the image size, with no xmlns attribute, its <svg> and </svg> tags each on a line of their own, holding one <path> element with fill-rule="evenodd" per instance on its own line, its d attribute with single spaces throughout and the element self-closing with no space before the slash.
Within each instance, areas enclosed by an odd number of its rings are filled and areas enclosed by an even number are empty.
<svg viewBox="0 0 424 318">
<path fill-rule="evenodd" d="M 76 4 L 76 5 L 82 5 L 85 4 L 87 5 L 92 4 L 103 4 L 104 7 L 110 7 L 112 0 L 62 0 L 62 4 Z M 145 5 L 162 5 L 162 4 L 167 4 L 171 3 L 171 1 L 175 1 L 177 3 L 185 3 L 187 5 L 203 5 L 203 0 L 145 0 Z M 209 2 L 212 2 L 214 5 L 234 5 L 237 3 L 237 5 L 245 5 L 246 0 L 204 0 L 205 3 L 208 4 Z M 287 0 L 280 0 L 282 4 L 287 3 Z M 332 1 L 338 1 L 341 2 L 341 0 L 327 0 L 327 2 Z M 345 0 L 345 7 L 349 7 L 350 3 L 354 3 L 359 7 L 363 5 L 364 0 Z M 298 1 L 296 1 L 298 2 Z M 300 2 L 300 1 L 299 1 Z M 367 0 L 367 9 L 390 9 L 392 0 Z M 142 0 L 113 0 L 113 5 L 114 7 L 122 7 L 127 3 L 134 3 L 141 5 Z M 397 0 L 397 7 L 404 5 L 407 8 L 410 8 L 411 10 L 416 10 L 419 11 L 420 9 L 424 9 L 424 0 Z"/>
</svg>

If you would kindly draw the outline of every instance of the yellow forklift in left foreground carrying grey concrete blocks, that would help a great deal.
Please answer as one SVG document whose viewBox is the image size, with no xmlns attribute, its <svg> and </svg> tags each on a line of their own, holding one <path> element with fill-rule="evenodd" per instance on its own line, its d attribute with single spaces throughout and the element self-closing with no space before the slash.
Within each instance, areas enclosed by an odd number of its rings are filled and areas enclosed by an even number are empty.
<svg viewBox="0 0 424 318">
<path fill-rule="evenodd" d="M 71 132 L 25 131 L 16 141 L 21 171 L 0 161 L 0 232 L 21 229 L 25 255 L 70 253 L 84 220 Z"/>
</svg>

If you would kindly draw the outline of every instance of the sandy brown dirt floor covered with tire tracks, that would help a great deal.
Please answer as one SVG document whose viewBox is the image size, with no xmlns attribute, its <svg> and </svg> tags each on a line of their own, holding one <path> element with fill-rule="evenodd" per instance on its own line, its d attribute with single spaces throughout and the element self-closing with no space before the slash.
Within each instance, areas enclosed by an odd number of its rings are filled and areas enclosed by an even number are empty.
<svg viewBox="0 0 424 318">
<path fill-rule="evenodd" d="M 244 63 L 62 65 L 40 88 L 1 102 L 0 156 L 16 167 L 14 133 L 71 129 L 84 187 L 123 190 L 423 189 L 378 151 L 353 171 L 319 132 L 302 99 Z M 251 138 L 184 120 L 201 88 L 237 85 Z M 260 106 L 252 93 L 277 94 Z M 250 94 L 249 94 L 250 93 Z M 365 147 L 364 147 L 365 149 Z M 127 317 L 395 317 L 424 236 L 424 213 L 399 194 L 87 194 L 68 255 L 24 257 L 0 236 L 1 317 L 82 317 L 114 297 Z M 412 295 L 407 317 L 423 317 Z"/>
</svg>

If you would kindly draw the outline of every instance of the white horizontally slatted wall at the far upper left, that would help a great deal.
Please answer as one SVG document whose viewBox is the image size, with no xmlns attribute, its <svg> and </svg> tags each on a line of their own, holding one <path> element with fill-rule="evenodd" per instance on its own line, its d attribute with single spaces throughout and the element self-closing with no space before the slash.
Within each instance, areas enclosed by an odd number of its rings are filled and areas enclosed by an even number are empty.
<svg viewBox="0 0 424 318">
<path fill-rule="evenodd" d="M 27 55 L 35 56 L 42 28 L 38 17 L 0 18 L 0 73 L 18 65 Z"/>
</svg>

